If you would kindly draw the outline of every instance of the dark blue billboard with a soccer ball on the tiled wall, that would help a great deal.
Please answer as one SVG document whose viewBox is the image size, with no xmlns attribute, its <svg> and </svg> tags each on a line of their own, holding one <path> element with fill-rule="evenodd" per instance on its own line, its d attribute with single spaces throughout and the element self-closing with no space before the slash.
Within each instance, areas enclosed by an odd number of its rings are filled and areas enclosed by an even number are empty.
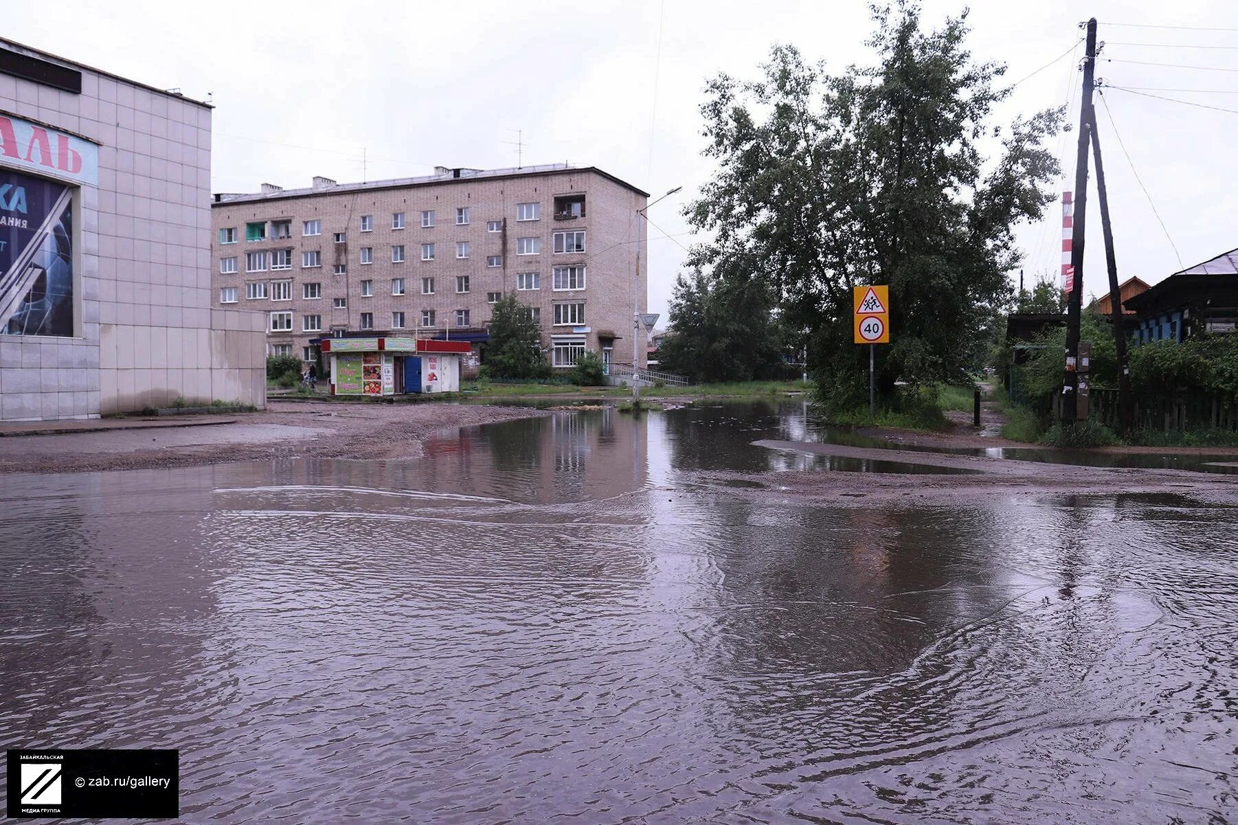
<svg viewBox="0 0 1238 825">
<path fill-rule="evenodd" d="M 73 187 L 2 168 L 0 333 L 73 336 Z"/>
</svg>

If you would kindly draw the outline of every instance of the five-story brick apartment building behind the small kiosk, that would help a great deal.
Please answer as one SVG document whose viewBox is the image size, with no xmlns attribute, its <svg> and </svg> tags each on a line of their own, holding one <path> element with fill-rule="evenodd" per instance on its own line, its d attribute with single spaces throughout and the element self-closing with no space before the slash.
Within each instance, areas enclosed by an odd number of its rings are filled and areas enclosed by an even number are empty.
<svg viewBox="0 0 1238 825">
<path fill-rule="evenodd" d="M 312 360 L 326 336 L 480 344 L 491 305 L 515 295 L 556 368 L 586 349 L 630 364 L 633 311 L 647 295 L 647 197 L 567 165 L 217 194 L 214 301 L 264 310 L 269 353 Z"/>
</svg>

